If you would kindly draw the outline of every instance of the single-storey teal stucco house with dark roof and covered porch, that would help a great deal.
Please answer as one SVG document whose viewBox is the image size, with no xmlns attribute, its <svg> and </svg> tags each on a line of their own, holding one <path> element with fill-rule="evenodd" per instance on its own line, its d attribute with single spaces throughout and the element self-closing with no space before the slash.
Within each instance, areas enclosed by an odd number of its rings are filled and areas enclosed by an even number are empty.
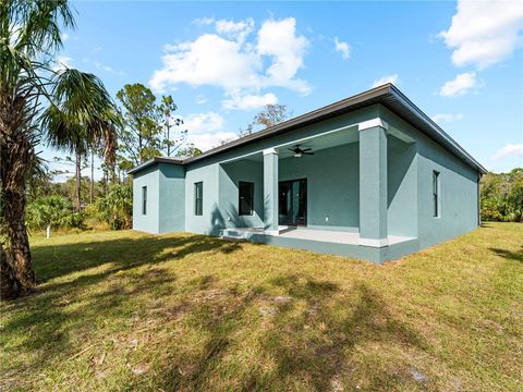
<svg viewBox="0 0 523 392">
<path fill-rule="evenodd" d="M 479 224 L 486 170 L 387 84 L 187 159 L 132 169 L 133 229 L 381 264 Z"/>
</svg>

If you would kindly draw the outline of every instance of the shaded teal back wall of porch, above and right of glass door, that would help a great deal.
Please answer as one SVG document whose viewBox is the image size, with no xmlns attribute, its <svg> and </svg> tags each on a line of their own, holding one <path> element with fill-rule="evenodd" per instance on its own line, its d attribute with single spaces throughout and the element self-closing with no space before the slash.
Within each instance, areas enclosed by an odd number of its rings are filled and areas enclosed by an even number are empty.
<svg viewBox="0 0 523 392">
<path fill-rule="evenodd" d="M 279 180 L 307 179 L 307 226 L 355 231 L 360 225 L 358 144 L 279 162 Z M 328 218 L 328 220 L 326 220 Z"/>
</svg>

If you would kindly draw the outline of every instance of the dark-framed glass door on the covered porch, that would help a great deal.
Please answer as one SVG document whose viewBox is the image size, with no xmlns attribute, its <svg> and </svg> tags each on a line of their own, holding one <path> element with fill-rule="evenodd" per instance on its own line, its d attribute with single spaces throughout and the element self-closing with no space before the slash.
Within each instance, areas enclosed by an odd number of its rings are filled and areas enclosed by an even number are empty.
<svg viewBox="0 0 523 392">
<path fill-rule="evenodd" d="M 307 180 L 279 183 L 279 224 L 307 224 Z"/>
</svg>

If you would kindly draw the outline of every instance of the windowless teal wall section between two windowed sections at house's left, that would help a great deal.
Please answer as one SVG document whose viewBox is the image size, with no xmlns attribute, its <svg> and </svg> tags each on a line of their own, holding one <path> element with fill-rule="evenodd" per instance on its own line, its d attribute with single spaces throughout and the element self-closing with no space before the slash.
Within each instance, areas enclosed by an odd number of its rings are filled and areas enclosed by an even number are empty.
<svg viewBox="0 0 523 392">
<path fill-rule="evenodd" d="M 185 231 L 185 168 L 158 164 L 160 233 Z"/>
</svg>

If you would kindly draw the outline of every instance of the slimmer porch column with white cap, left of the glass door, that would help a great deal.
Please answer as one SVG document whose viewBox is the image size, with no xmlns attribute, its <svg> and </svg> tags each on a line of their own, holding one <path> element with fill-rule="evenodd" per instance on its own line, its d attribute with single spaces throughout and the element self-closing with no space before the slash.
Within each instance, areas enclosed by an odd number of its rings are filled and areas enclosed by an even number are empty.
<svg viewBox="0 0 523 392">
<path fill-rule="evenodd" d="M 278 234 L 278 150 L 264 150 L 264 226 Z"/>
</svg>

